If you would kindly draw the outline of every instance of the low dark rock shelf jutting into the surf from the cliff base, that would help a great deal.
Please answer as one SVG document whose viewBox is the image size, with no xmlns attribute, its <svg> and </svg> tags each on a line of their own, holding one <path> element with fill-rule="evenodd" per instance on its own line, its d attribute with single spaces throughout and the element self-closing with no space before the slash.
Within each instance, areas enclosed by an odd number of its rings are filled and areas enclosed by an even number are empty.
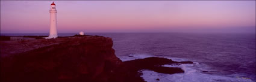
<svg viewBox="0 0 256 82">
<path fill-rule="evenodd" d="M 183 73 L 183 69 L 176 67 L 164 67 L 161 65 L 172 65 L 172 64 L 181 64 L 181 63 L 191 63 L 187 62 L 175 62 L 171 59 L 166 59 L 163 57 L 147 57 L 145 59 L 136 59 L 129 60 L 124 62 L 127 68 L 134 71 L 139 71 L 142 69 L 149 69 L 155 72 L 164 73 L 164 74 L 176 74 Z M 193 62 L 192 62 L 193 63 Z"/>
</svg>

